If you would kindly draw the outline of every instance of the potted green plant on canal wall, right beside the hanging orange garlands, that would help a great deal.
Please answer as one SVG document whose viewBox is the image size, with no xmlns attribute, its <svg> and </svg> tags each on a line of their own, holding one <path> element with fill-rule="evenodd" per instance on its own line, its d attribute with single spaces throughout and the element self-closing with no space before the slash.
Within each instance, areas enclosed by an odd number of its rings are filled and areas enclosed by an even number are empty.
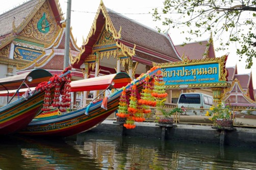
<svg viewBox="0 0 256 170">
<path fill-rule="evenodd" d="M 174 108 L 170 111 L 166 111 L 165 109 L 161 109 L 161 112 L 163 114 L 162 118 L 159 118 L 158 123 L 159 124 L 173 124 L 173 118 L 171 117 L 171 115 L 173 115 L 174 113 L 183 113 L 184 111 L 182 110 L 182 108 Z"/>
</svg>

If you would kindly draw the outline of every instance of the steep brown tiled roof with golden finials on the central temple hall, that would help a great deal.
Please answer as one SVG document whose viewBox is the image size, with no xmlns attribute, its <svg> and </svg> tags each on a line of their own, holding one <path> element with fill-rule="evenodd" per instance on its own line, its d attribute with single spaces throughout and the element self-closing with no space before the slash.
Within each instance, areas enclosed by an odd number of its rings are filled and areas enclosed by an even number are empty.
<svg viewBox="0 0 256 170">
<path fill-rule="evenodd" d="M 128 55 L 133 60 L 148 65 L 152 65 L 153 58 L 161 59 L 163 62 L 182 60 L 167 34 L 159 33 L 157 30 L 117 14 L 107 9 L 101 1 L 91 30 L 83 43 L 84 51 L 72 62 L 74 67 L 80 68 L 92 53 L 92 47 L 96 44 L 104 27 L 111 32 L 116 46 L 121 49 L 123 55 Z"/>
</svg>

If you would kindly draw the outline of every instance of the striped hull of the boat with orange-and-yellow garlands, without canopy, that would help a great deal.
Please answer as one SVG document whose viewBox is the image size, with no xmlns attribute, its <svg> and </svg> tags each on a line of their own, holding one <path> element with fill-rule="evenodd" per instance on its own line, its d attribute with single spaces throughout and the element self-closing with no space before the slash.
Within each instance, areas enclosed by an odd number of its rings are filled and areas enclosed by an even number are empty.
<svg viewBox="0 0 256 170">
<path fill-rule="evenodd" d="M 67 137 L 90 130 L 118 109 L 120 94 L 121 90 L 108 99 L 108 110 L 101 108 L 101 100 L 91 105 L 88 115 L 85 114 L 86 108 L 83 108 L 63 115 L 34 119 L 20 133 L 36 136 Z"/>
</svg>

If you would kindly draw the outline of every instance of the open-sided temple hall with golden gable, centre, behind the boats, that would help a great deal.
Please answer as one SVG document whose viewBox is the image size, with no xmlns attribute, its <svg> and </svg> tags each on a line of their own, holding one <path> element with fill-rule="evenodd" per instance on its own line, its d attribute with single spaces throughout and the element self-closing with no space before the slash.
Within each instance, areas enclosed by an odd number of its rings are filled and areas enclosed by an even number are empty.
<svg viewBox="0 0 256 170">
<path fill-rule="evenodd" d="M 85 79 L 119 72 L 137 78 L 152 67 L 152 62 L 181 60 L 168 33 L 109 10 L 101 1 L 82 52 L 71 63 L 83 70 Z M 171 103 L 171 90 L 168 94 L 167 103 Z M 85 96 L 88 98 L 88 94 Z"/>
</svg>

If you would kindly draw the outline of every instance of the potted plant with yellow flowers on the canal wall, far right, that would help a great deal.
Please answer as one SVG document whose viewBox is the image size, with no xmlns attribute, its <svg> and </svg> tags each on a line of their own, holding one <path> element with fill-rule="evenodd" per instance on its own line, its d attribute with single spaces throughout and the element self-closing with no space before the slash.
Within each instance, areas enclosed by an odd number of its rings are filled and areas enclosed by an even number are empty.
<svg viewBox="0 0 256 170">
<path fill-rule="evenodd" d="M 228 106 L 225 108 L 221 104 L 212 106 L 209 111 L 206 112 L 206 116 L 212 116 L 209 118 L 213 121 L 213 128 L 217 129 L 232 129 L 233 121 L 231 118 L 231 110 Z"/>
</svg>

